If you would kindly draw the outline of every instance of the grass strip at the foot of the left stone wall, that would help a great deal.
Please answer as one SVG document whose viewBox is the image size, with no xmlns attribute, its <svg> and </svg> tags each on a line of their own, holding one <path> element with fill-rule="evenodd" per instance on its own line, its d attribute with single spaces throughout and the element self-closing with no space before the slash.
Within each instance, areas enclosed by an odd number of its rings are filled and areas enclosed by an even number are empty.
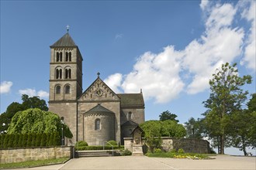
<svg viewBox="0 0 256 170">
<path fill-rule="evenodd" d="M 31 167 L 36 167 L 36 166 L 61 164 L 61 163 L 66 162 L 68 159 L 69 158 L 56 158 L 56 159 L 46 159 L 46 160 L 29 161 L 29 162 L 6 163 L 6 164 L 0 164 L 0 169 L 3 169 L 3 168 L 31 168 Z"/>
</svg>

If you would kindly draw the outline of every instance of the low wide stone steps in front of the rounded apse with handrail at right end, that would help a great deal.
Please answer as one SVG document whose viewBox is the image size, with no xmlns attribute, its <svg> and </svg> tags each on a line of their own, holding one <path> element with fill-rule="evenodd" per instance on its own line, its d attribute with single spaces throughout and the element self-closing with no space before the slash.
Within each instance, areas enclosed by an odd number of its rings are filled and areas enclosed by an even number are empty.
<svg viewBox="0 0 256 170">
<path fill-rule="evenodd" d="M 81 158 L 81 157 L 100 157 L 100 156 L 116 156 L 116 151 L 112 150 L 97 150 L 97 151 L 75 151 L 76 158 Z"/>
</svg>

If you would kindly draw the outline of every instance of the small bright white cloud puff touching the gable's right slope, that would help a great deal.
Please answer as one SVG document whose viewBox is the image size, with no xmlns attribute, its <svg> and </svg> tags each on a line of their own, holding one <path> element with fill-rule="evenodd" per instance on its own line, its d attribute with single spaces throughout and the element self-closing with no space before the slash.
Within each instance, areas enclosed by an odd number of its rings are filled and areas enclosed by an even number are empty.
<svg viewBox="0 0 256 170">
<path fill-rule="evenodd" d="M 115 93 L 121 93 L 119 87 L 121 86 L 122 74 L 115 73 L 106 78 L 104 82 L 111 88 Z"/>
</svg>

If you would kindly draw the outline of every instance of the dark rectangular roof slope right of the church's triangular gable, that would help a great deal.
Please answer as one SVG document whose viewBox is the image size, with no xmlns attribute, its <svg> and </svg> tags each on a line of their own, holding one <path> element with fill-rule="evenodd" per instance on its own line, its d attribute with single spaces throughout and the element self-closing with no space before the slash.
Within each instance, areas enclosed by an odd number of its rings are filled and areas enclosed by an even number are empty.
<svg viewBox="0 0 256 170">
<path fill-rule="evenodd" d="M 142 93 L 118 93 L 121 98 L 121 107 L 144 107 Z"/>
</svg>

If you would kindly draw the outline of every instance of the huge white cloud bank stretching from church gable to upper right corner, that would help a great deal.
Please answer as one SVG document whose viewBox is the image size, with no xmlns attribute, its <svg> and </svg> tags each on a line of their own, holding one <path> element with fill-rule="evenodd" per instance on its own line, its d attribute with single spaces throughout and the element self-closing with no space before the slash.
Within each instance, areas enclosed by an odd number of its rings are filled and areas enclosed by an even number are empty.
<svg viewBox="0 0 256 170">
<path fill-rule="evenodd" d="M 243 54 L 242 62 L 255 69 L 255 2 L 251 4 L 254 5 L 247 12 L 242 11 L 244 18 L 251 22 L 251 33 L 245 36 L 247 28 L 239 25 L 237 18 L 235 21 L 241 6 L 202 1 L 206 31 L 199 39 L 192 40 L 180 51 L 166 46 L 161 53 L 144 53 L 133 70 L 112 87 L 122 87 L 125 93 L 138 93 L 142 88 L 145 100 L 153 98 L 165 103 L 182 91 L 194 94 L 206 90 L 216 68 L 222 63 L 233 63 Z"/>
</svg>

